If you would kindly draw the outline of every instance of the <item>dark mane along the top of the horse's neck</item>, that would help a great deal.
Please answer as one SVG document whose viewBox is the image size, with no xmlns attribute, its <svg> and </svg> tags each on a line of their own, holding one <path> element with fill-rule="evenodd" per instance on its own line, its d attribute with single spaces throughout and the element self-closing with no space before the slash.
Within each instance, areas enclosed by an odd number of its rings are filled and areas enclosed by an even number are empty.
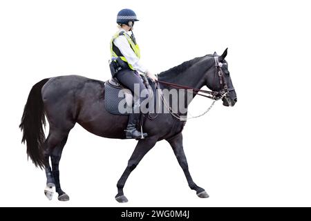
<svg viewBox="0 0 311 221">
<path fill-rule="evenodd" d="M 158 77 L 160 79 L 165 79 L 167 77 L 176 77 L 180 73 L 183 73 L 185 70 L 193 66 L 194 64 L 198 63 L 198 61 L 201 61 L 205 57 L 214 57 L 214 55 L 205 55 L 203 57 L 196 57 L 194 59 L 191 59 L 189 61 L 184 61 L 182 64 L 175 66 L 173 68 L 170 68 L 169 70 L 165 70 L 158 74 Z"/>
</svg>

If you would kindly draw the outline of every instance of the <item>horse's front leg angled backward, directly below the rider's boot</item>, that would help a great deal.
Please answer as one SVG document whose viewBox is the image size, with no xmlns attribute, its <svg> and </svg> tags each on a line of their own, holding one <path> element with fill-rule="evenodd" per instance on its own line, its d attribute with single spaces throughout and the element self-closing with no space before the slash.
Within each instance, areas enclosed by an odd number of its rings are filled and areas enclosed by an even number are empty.
<svg viewBox="0 0 311 221">
<path fill-rule="evenodd" d="M 120 180 L 117 182 L 117 195 L 115 196 L 115 200 L 117 200 L 117 202 L 128 202 L 123 193 L 124 184 L 131 172 L 136 168 L 136 166 L 138 166 L 144 155 L 146 155 L 146 153 L 148 153 L 151 148 L 153 148 L 157 140 L 158 139 L 156 137 L 147 137 L 144 140 L 140 140 L 136 145 L 124 173 L 122 174 Z"/>
</svg>

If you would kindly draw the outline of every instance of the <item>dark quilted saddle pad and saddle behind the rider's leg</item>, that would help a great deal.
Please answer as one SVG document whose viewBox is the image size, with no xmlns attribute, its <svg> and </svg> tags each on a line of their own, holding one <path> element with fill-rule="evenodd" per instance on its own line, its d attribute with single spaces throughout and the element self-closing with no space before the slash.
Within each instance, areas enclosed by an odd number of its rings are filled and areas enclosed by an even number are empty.
<svg viewBox="0 0 311 221">
<path fill-rule="evenodd" d="M 150 91 L 153 89 L 149 85 L 147 77 L 142 77 L 144 85 Z M 134 95 L 129 88 L 126 88 L 120 81 L 113 77 L 105 82 L 105 108 L 113 115 L 129 115 L 134 105 Z"/>
</svg>

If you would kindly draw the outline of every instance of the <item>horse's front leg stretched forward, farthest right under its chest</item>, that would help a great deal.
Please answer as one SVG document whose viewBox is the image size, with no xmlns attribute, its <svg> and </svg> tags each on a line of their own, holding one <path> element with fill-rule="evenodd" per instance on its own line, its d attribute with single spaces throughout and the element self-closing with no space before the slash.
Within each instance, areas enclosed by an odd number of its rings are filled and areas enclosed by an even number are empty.
<svg viewBox="0 0 311 221">
<path fill-rule="evenodd" d="M 194 183 L 194 180 L 192 180 L 188 168 L 187 158 L 184 152 L 184 148 L 182 146 L 182 133 L 179 133 L 176 137 L 173 137 L 173 139 L 171 140 L 167 140 L 167 142 L 169 142 L 169 144 L 171 144 L 171 147 L 173 148 L 178 163 L 180 164 L 182 170 L 185 173 L 190 189 L 196 191 L 196 195 L 198 195 L 199 198 L 208 198 L 209 195 L 205 192 L 205 190 L 202 189 L 200 186 L 197 186 Z"/>
</svg>

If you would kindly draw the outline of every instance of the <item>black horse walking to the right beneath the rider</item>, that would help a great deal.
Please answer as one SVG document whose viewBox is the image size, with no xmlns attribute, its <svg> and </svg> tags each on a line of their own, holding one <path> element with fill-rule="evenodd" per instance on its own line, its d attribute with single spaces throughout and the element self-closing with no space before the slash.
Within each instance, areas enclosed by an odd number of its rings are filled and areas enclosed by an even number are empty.
<svg viewBox="0 0 311 221">
<path fill-rule="evenodd" d="M 236 92 L 229 75 L 227 61 L 225 61 L 226 55 L 227 49 L 221 56 L 214 53 L 214 55 L 205 55 L 185 61 L 179 66 L 160 73 L 158 79 L 191 88 L 207 86 L 210 90 L 218 92 L 226 89 L 227 93 L 221 97 L 223 105 L 234 106 L 237 101 Z M 218 73 L 223 73 L 223 75 L 218 75 Z M 124 128 L 126 128 L 128 116 L 112 115 L 105 110 L 104 84 L 103 81 L 70 75 L 43 79 L 30 90 L 19 127 L 23 131 L 22 142 L 27 143 L 28 157 L 35 166 L 44 168 L 46 171 L 45 194 L 49 200 L 53 197 L 53 186 L 59 195 L 59 200 L 69 200 L 68 195 L 62 191 L 60 186 L 59 160 L 68 134 L 75 123 L 101 137 L 125 138 Z M 171 86 L 161 84 L 161 88 L 169 89 Z M 45 116 L 50 126 L 46 139 L 43 128 L 43 125 L 46 125 Z M 180 121 L 169 113 L 158 114 L 155 119 L 145 120 L 143 130 L 149 136 L 138 141 L 124 173 L 117 182 L 118 193 L 115 196 L 117 202 L 127 202 L 123 193 L 127 178 L 138 166 L 142 157 L 160 140 L 167 140 L 171 144 L 187 177 L 189 187 L 196 191 L 198 197 L 209 197 L 204 189 L 194 183 L 189 173 L 182 147 L 184 125 L 185 121 Z M 49 160 L 51 160 L 52 168 Z"/>
</svg>

